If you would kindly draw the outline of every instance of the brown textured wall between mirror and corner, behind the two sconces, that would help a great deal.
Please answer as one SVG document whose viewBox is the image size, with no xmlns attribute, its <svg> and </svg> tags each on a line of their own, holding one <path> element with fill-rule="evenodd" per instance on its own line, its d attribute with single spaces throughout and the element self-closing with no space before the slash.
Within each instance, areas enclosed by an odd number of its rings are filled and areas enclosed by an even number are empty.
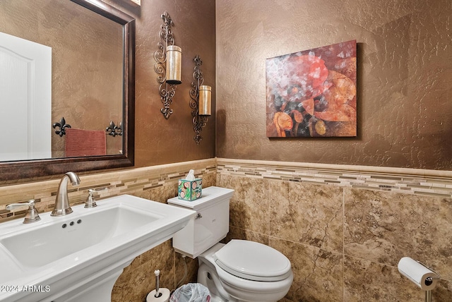
<svg viewBox="0 0 452 302">
<path fill-rule="evenodd" d="M 141 7 L 126 1 L 105 1 L 136 18 L 136 122 L 135 166 L 145 167 L 186 160 L 215 157 L 215 116 L 203 128 L 201 144 L 194 142 L 191 108 L 191 83 L 194 57 L 201 56 L 204 84 L 212 86 L 212 112 L 215 112 L 215 1 L 146 0 Z M 165 119 L 154 71 L 154 52 L 160 42 L 158 32 L 164 11 L 169 13 L 177 46 L 182 47 L 182 84 L 177 86 Z"/>
</svg>

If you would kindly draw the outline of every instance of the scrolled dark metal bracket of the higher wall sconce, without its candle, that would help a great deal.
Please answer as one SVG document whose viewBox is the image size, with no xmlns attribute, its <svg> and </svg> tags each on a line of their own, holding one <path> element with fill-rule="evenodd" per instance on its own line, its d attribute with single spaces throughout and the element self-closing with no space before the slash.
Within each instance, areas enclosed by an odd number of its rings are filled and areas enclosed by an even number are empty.
<svg viewBox="0 0 452 302">
<path fill-rule="evenodd" d="M 160 42 L 157 43 L 157 51 L 154 53 L 154 70 L 157 73 L 157 83 L 159 83 L 160 100 L 163 104 L 162 112 L 165 119 L 169 119 L 172 114 L 170 105 L 172 99 L 176 94 L 176 86 L 167 83 L 166 81 L 166 61 L 167 61 L 167 47 L 168 45 L 174 45 L 174 35 L 172 34 L 171 26 L 174 25 L 171 17 L 165 11 L 162 14 L 163 24 L 160 26 Z"/>
</svg>

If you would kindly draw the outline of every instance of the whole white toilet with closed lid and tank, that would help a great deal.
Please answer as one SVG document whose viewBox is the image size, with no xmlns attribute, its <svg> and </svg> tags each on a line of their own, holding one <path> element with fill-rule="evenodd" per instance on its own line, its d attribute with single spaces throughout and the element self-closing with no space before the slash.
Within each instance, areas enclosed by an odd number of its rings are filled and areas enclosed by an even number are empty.
<svg viewBox="0 0 452 302">
<path fill-rule="evenodd" d="M 234 190 L 203 189 L 194 201 L 177 197 L 170 205 L 197 212 L 173 238 L 174 249 L 198 257 L 198 283 L 207 286 L 212 302 L 274 302 L 287 294 L 293 281 L 290 260 L 274 248 L 246 240 L 219 243 L 229 231 L 229 203 Z"/>
</svg>

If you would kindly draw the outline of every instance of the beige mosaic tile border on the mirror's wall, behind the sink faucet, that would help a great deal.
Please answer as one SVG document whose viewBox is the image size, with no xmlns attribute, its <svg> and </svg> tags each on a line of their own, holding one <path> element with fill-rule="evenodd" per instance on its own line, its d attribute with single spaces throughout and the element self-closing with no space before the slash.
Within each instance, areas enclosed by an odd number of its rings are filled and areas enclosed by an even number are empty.
<svg viewBox="0 0 452 302">
<path fill-rule="evenodd" d="M 174 188 L 177 188 L 177 181 L 183 179 L 190 169 L 194 169 L 196 176 L 206 177 L 215 176 L 216 168 L 216 159 L 212 158 L 100 174 L 79 175 L 81 186 L 69 186 L 69 198 L 71 205 L 84 203 L 90 188 L 107 189 L 98 191 L 95 195 L 97 199 L 122 194 L 139 194 L 142 191 L 152 190 L 167 184 L 174 185 Z M 59 179 L 52 179 L 0 186 L 0 222 L 25 215 L 26 207 L 16 212 L 5 210 L 6 205 L 10 203 L 22 203 L 34 199 L 39 212 L 52 210 L 59 181 Z"/>
</svg>

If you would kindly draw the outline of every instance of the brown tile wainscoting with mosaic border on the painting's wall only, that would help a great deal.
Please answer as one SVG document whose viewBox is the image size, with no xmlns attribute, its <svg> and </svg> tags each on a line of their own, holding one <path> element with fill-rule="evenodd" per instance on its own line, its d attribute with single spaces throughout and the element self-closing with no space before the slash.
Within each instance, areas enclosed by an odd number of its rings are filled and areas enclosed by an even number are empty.
<svg viewBox="0 0 452 302">
<path fill-rule="evenodd" d="M 233 188 L 231 238 L 266 243 L 292 262 L 285 301 L 424 301 L 402 277 L 409 256 L 441 274 L 452 301 L 452 173 L 218 159 Z"/>
</svg>

